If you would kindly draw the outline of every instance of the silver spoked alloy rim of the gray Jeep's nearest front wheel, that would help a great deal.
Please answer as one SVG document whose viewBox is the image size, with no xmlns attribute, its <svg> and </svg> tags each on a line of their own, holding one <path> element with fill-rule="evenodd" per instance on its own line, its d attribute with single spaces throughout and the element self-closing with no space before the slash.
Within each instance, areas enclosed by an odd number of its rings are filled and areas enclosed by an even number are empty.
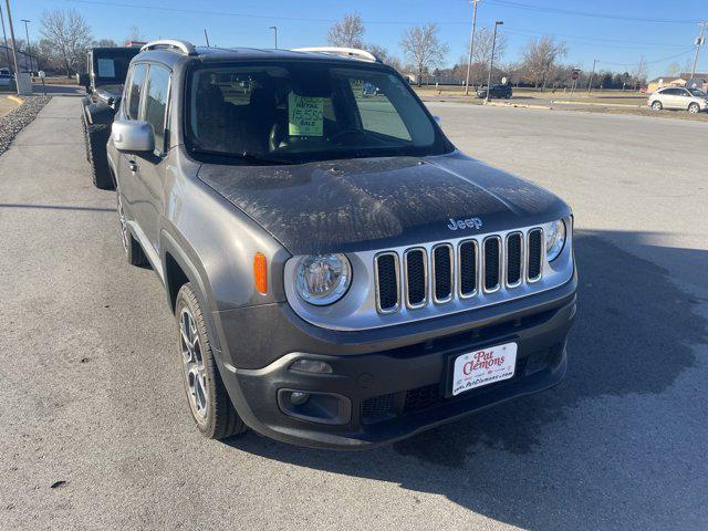
<svg viewBox="0 0 708 531">
<path fill-rule="evenodd" d="M 189 405 L 197 417 L 207 418 L 209 400 L 207 372 L 197 324 L 188 308 L 184 308 L 179 314 L 179 344 Z"/>
</svg>

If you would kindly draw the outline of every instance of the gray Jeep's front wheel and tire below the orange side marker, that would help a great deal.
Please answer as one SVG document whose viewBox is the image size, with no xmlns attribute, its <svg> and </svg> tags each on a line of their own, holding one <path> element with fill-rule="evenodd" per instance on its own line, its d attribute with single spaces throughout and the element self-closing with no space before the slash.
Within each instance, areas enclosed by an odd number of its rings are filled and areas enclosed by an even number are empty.
<svg viewBox="0 0 708 531">
<path fill-rule="evenodd" d="M 209 439 L 226 439 L 248 428 L 233 408 L 214 358 L 201 306 L 190 283 L 175 303 L 177 345 L 189 412 Z"/>
</svg>

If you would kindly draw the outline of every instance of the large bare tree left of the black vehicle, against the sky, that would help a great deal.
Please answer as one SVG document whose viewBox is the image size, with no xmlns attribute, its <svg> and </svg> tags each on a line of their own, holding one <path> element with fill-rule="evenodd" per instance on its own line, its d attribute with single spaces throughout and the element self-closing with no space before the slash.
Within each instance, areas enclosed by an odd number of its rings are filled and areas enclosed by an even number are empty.
<svg viewBox="0 0 708 531">
<path fill-rule="evenodd" d="M 52 53 L 61 59 L 66 77 L 71 76 L 91 45 L 91 28 L 74 9 L 44 11 L 40 23 L 40 32 L 53 46 Z"/>
</svg>

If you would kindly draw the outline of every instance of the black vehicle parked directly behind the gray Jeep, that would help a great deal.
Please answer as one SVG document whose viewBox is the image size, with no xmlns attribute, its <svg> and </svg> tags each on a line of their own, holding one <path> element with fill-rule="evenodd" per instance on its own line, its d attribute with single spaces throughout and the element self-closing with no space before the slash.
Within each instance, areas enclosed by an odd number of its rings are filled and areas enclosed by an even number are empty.
<svg viewBox="0 0 708 531">
<path fill-rule="evenodd" d="M 79 83 L 88 94 L 81 100 L 86 160 L 94 186 L 104 190 L 114 187 L 105 149 L 113 115 L 121 104 L 131 60 L 139 51 L 139 48 L 92 48 L 86 52 L 86 73 L 79 75 Z"/>
</svg>

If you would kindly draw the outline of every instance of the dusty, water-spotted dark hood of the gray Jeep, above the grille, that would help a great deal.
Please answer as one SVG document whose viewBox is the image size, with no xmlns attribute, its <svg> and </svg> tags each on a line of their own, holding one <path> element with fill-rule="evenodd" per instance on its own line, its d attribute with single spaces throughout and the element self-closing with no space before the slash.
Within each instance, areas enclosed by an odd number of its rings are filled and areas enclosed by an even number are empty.
<svg viewBox="0 0 708 531">
<path fill-rule="evenodd" d="M 570 214 L 553 194 L 459 152 L 287 166 L 205 164 L 198 177 L 293 254 L 449 240 Z M 451 229 L 454 220 L 470 218 L 481 227 Z"/>
</svg>

